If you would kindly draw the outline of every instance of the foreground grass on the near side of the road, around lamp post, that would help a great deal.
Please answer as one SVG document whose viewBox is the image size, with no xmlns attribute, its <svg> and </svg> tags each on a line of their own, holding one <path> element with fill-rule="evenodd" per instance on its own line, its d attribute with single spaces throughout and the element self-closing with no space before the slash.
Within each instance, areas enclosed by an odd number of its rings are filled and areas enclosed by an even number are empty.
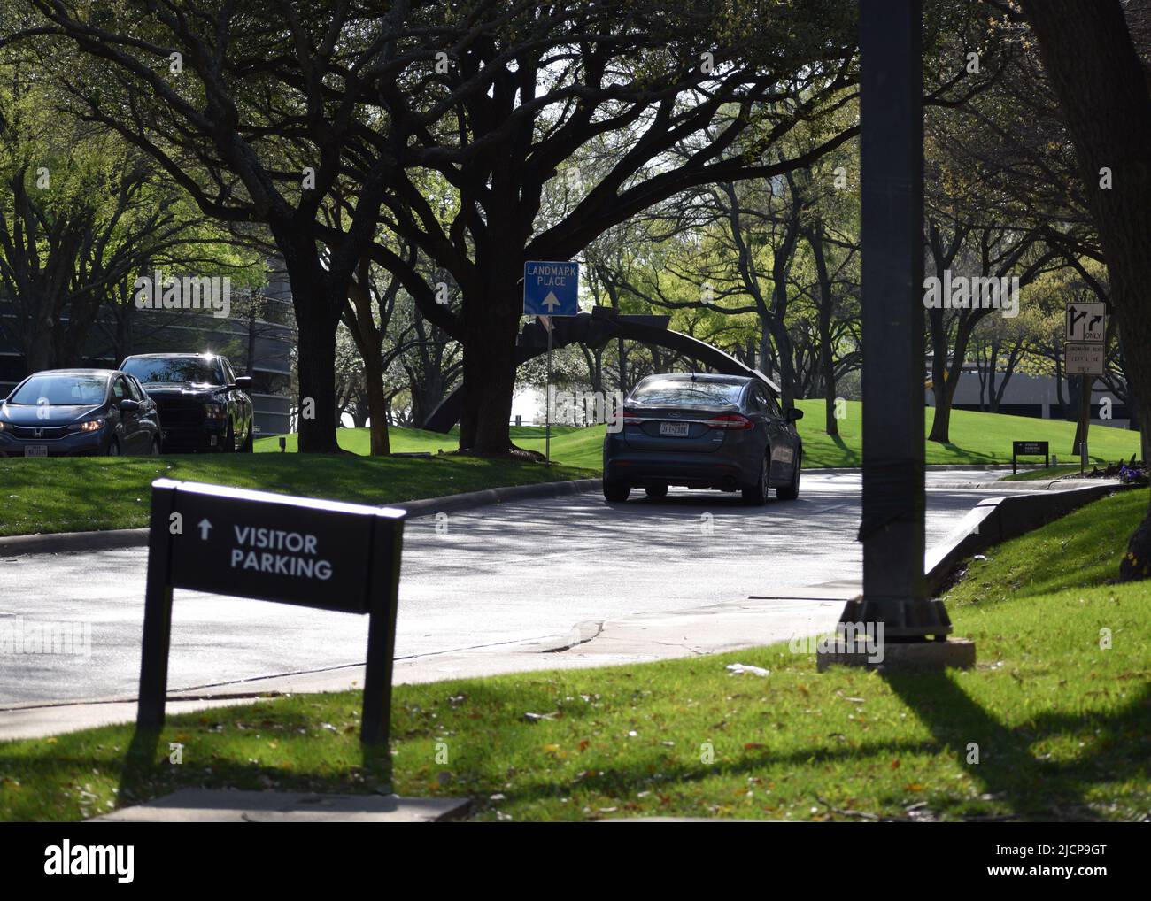
<svg viewBox="0 0 1151 901">
<path fill-rule="evenodd" d="M 402 686 L 392 785 L 472 796 L 479 819 L 1146 817 L 1151 583 L 1107 582 L 1146 505 L 1118 495 L 975 562 L 946 598 L 977 642 L 973 671 L 818 674 L 776 646 Z M 734 662 L 770 675 L 731 675 Z M 387 758 L 357 742 L 359 702 L 173 717 L 128 763 L 128 726 L 2 743 L 0 819 L 76 819 L 184 786 L 372 792 Z"/>
</svg>

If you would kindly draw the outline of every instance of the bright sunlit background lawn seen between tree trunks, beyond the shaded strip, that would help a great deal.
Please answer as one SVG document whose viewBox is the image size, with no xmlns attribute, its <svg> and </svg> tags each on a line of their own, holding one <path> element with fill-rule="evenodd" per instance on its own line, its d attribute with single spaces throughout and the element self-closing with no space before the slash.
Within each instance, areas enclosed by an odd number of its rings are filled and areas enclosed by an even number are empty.
<svg viewBox="0 0 1151 901">
<path fill-rule="evenodd" d="M 839 420 L 839 435 L 831 437 L 823 430 L 824 405 L 822 400 L 800 400 L 803 419 L 799 421 L 803 437 L 803 466 L 818 469 L 834 466 L 862 465 L 863 407 L 856 400 L 848 400 L 847 415 Z M 924 436 L 931 429 L 935 411 L 927 410 Z M 1000 413 L 978 413 L 955 410 L 951 420 L 951 444 L 925 442 L 929 464 L 996 464 L 1011 463 L 1013 441 L 1047 441 L 1055 455 L 1069 458 L 1075 425 L 1052 419 L 1007 417 Z M 552 427 L 551 458 L 569 466 L 585 469 L 601 469 L 603 456 L 604 426 L 592 428 Z M 521 426 L 512 428 L 512 438 L 521 448 L 543 451 L 543 427 Z M 395 451 L 453 450 L 457 435 L 441 435 L 420 429 L 391 429 Z M 341 429 L 340 446 L 356 453 L 368 452 L 367 429 Z M 295 436 L 289 436 L 289 450 L 295 450 Z M 1088 449 L 1095 463 L 1113 463 L 1128 459 L 1139 451 L 1139 434 L 1127 429 L 1091 426 Z M 275 438 L 262 438 L 256 443 L 257 451 L 279 450 Z M 1077 459 L 1077 458 L 1076 458 Z M 1032 460 L 1034 463 L 1034 460 Z M 1076 464 L 1077 466 L 1077 464 Z"/>
</svg>

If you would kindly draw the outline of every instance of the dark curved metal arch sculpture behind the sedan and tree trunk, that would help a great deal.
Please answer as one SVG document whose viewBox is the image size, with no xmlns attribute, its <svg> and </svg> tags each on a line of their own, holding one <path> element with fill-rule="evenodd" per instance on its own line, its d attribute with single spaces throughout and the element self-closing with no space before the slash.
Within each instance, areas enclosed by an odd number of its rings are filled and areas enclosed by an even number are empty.
<svg viewBox="0 0 1151 901">
<path fill-rule="evenodd" d="M 759 369 L 745 366 L 730 353 L 712 348 L 699 338 L 672 331 L 668 328 L 670 316 L 643 316 L 617 313 L 610 306 L 597 306 L 590 313 L 552 319 L 551 346 L 564 348 L 582 342 L 592 348 L 607 344 L 612 338 L 628 338 L 645 344 L 656 344 L 699 360 L 724 375 L 744 375 L 759 379 L 777 395 L 779 385 Z M 516 348 L 516 365 L 527 362 L 548 350 L 548 333 L 543 324 L 533 320 L 524 326 Z M 425 420 L 424 428 L 447 434 L 459 421 L 464 404 L 462 389 L 448 395 Z"/>
</svg>

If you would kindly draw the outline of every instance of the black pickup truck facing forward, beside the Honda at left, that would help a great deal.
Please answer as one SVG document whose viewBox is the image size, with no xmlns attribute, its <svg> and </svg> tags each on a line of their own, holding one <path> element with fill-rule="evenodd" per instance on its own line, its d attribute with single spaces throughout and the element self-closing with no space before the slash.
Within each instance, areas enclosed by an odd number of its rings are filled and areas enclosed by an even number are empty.
<svg viewBox="0 0 1151 901">
<path fill-rule="evenodd" d="M 120 368 L 134 375 L 160 411 L 163 450 L 252 450 L 250 376 L 214 353 L 140 353 Z"/>
</svg>

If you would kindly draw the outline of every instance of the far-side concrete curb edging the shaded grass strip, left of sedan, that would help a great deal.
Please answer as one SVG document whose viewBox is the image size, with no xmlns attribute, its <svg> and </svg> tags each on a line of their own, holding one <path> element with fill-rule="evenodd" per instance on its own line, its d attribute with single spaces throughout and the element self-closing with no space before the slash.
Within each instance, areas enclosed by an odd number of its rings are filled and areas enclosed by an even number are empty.
<svg viewBox="0 0 1151 901">
<path fill-rule="evenodd" d="M 470 510 L 488 504 L 504 504 L 527 501 L 533 497 L 558 497 L 599 491 L 601 479 L 572 479 L 565 482 L 538 482 L 504 488 L 488 488 L 483 491 L 466 491 L 444 497 L 428 497 L 386 504 L 406 510 L 410 519 L 447 513 L 452 510 Z M 10 535 L 0 537 L 0 558 L 21 557 L 29 553 L 82 553 L 85 551 L 114 550 L 117 548 L 142 548 L 147 544 L 146 528 L 117 528 L 102 532 L 61 532 L 53 535 Z"/>
</svg>

